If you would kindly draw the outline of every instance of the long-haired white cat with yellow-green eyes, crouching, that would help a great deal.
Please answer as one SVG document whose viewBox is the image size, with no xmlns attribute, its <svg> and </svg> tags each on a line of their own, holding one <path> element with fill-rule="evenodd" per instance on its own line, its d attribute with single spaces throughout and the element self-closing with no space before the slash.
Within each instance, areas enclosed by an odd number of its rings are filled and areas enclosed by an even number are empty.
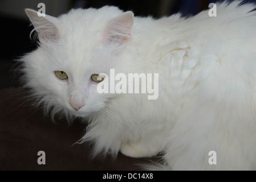
<svg viewBox="0 0 256 182">
<path fill-rule="evenodd" d="M 26 86 L 52 115 L 88 121 L 80 142 L 95 155 L 161 152 L 163 169 L 255 169 L 256 6 L 240 3 L 217 4 L 217 17 L 157 20 L 109 6 L 58 18 L 26 9 L 40 41 L 21 60 Z M 159 73 L 159 98 L 98 93 L 95 78 L 110 69 Z"/>
</svg>

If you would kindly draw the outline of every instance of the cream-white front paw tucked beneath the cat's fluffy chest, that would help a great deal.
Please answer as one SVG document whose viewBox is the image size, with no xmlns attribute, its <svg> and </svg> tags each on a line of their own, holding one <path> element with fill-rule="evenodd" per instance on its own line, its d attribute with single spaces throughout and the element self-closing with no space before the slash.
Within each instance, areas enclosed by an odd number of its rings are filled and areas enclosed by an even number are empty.
<svg viewBox="0 0 256 182">
<path fill-rule="evenodd" d="M 148 158 L 155 156 L 157 151 L 152 147 L 145 147 L 140 142 L 127 142 L 122 143 L 120 147 L 120 152 L 131 158 Z"/>
</svg>

